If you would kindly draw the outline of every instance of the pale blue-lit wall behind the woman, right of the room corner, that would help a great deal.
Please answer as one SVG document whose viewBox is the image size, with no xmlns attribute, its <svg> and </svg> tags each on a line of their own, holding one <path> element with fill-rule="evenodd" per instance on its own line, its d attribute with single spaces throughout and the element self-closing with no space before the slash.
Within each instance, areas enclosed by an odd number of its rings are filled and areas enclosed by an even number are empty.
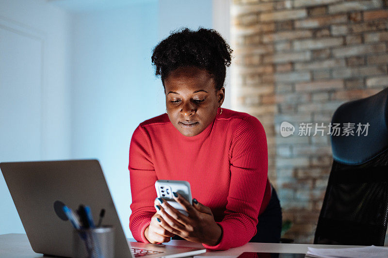
<svg viewBox="0 0 388 258">
<path fill-rule="evenodd" d="M 139 123 L 165 112 L 152 49 L 172 30 L 210 28 L 211 21 L 209 0 L 155 0 L 73 16 L 72 157 L 99 159 L 128 237 L 129 141 Z"/>
</svg>

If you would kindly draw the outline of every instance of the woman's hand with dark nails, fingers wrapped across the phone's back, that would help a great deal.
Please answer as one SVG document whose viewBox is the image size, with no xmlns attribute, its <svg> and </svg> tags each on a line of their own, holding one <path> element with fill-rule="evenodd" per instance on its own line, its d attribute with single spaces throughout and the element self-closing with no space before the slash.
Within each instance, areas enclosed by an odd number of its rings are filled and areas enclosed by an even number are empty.
<svg viewBox="0 0 388 258">
<path fill-rule="evenodd" d="M 195 203 L 195 199 L 193 205 L 191 205 L 182 195 L 177 195 L 178 197 L 174 196 L 174 199 L 189 215 L 182 214 L 163 199 L 160 203 L 157 198 L 155 205 L 161 208 L 160 210 L 157 209 L 157 213 L 162 216 L 161 226 L 190 242 L 217 245 L 221 240 L 222 229 L 214 221 L 210 208 L 199 202 Z"/>
</svg>

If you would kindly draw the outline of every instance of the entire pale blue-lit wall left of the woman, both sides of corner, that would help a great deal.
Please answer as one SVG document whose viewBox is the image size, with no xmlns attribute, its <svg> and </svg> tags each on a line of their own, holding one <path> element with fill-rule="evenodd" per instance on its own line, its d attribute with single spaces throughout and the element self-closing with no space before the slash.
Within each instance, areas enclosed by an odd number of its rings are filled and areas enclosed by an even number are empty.
<svg viewBox="0 0 388 258">
<path fill-rule="evenodd" d="M 14 139 L 0 148 L 0 162 L 97 158 L 131 237 L 130 137 L 139 123 L 165 112 L 152 48 L 180 27 L 211 28 L 213 6 L 212 0 L 110 3 L 0 1 L 0 41 L 8 44 L 0 44 L 0 70 L 9 75 L 0 81 L 0 139 Z M 23 33 L 30 43 L 22 42 Z M 0 196 L 0 234 L 24 232 L 2 175 Z"/>
</svg>

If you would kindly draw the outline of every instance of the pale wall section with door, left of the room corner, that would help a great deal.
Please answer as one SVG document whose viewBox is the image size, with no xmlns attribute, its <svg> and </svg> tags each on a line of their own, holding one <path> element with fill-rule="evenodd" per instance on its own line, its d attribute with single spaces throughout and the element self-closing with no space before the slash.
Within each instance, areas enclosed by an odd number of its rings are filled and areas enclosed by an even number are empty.
<svg viewBox="0 0 388 258">
<path fill-rule="evenodd" d="M 69 16 L 0 1 L 0 162 L 70 157 Z M 0 174 L 0 234 L 24 233 Z"/>
</svg>

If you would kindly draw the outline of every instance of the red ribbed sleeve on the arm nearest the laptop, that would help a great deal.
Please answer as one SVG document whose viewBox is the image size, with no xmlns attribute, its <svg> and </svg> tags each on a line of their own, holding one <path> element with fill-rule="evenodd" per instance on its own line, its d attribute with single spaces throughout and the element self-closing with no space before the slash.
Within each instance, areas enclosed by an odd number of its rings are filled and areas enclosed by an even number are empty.
<svg viewBox="0 0 388 258">
<path fill-rule="evenodd" d="M 149 242 L 144 236 L 144 231 L 156 212 L 153 203 L 156 198 L 155 181 L 157 177 L 149 147 L 150 143 L 146 131 L 138 126 L 133 132 L 129 146 L 128 169 L 132 195 L 129 228 L 136 241 L 145 243 Z"/>
</svg>

